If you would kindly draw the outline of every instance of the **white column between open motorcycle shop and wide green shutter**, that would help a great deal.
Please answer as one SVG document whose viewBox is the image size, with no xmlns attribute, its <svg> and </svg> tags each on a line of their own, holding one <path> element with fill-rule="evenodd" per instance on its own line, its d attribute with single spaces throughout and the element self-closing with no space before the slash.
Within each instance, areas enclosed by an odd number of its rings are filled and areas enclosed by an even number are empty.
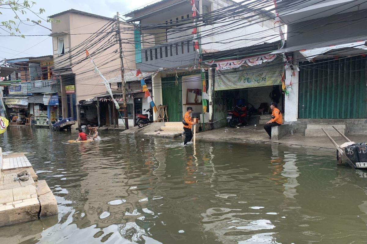
<svg viewBox="0 0 367 244">
<path fill-rule="evenodd" d="M 295 62 L 298 64 L 298 62 Z M 290 84 L 292 85 L 290 86 Z M 297 121 L 298 117 L 298 71 L 297 66 L 294 65 L 294 75 L 292 70 L 287 68 L 286 70 L 286 86 L 289 94 L 285 97 L 284 101 L 284 121 Z"/>
</svg>

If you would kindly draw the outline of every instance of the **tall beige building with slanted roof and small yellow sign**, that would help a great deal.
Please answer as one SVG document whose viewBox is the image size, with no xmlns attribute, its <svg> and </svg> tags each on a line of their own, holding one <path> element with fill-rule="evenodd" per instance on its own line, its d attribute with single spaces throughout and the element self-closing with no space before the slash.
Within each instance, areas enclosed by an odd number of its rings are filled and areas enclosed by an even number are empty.
<svg viewBox="0 0 367 244">
<path fill-rule="evenodd" d="M 62 115 L 80 120 L 78 101 L 89 100 L 106 92 L 102 78 L 95 73 L 93 64 L 86 56 L 86 49 L 106 79 L 121 77 L 119 44 L 115 35 L 117 21 L 73 9 L 51 15 L 49 18 L 61 20 L 59 23 L 52 23 L 50 36 L 53 44 L 54 72 L 61 80 Z M 126 26 L 121 21 L 119 25 L 121 28 Z M 133 31 L 121 31 L 121 38 L 133 40 Z M 134 45 L 124 41 L 122 49 L 133 50 Z M 135 69 L 134 60 L 124 58 L 123 63 L 125 68 Z M 117 86 L 112 88 L 118 89 Z M 113 114 L 114 109 L 111 106 L 108 113 Z"/>
</svg>

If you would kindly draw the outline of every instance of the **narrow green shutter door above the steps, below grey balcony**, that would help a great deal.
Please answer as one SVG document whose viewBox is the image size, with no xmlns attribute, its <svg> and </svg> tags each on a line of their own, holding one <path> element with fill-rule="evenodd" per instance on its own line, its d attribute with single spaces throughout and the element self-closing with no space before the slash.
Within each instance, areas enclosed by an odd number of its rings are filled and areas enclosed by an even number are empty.
<svg viewBox="0 0 367 244">
<path fill-rule="evenodd" d="M 182 87 L 181 76 L 162 78 L 163 104 L 168 105 L 168 121 L 182 121 Z"/>
</svg>

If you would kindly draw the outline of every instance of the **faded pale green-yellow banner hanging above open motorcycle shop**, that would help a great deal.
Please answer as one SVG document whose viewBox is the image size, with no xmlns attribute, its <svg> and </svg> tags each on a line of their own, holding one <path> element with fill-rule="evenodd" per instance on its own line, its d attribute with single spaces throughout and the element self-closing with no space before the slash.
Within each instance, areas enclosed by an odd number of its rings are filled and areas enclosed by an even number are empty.
<svg viewBox="0 0 367 244">
<path fill-rule="evenodd" d="M 283 67 L 280 65 L 261 65 L 259 68 L 246 67 L 238 71 L 218 71 L 214 90 L 280 85 L 282 72 Z"/>
</svg>

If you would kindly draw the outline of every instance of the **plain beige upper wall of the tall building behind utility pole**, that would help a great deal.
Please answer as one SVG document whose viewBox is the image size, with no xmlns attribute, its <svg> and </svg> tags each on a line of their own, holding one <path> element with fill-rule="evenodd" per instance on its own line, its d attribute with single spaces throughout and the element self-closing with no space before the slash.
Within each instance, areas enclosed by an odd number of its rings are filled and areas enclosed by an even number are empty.
<svg viewBox="0 0 367 244">
<path fill-rule="evenodd" d="M 57 19 L 60 19 L 61 22 L 52 23 L 51 26 L 52 33 L 57 33 L 52 35 L 55 69 L 69 67 L 72 70 L 72 74 L 75 74 L 76 102 L 88 100 L 98 94 L 105 93 L 106 87 L 103 84 L 103 80 L 98 74 L 95 74 L 94 66 L 86 56 L 86 49 L 88 49 L 98 70 L 107 80 L 121 76 L 119 44 L 114 38 L 116 32 L 113 31 L 116 21 L 73 12 L 59 15 Z M 100 32 L 102 31 L 101 28 L 103 29 L 104 27 L 106 29 L 103 33 L 98 35 L 90 34 Z M 121 29 L 126 27 L 132 26 L 120 23 Z M 111 33 L 108 34 L 108 32 Z M 133 28 L 131 31 L 124 30 L 121 32 L 123 54 L 126 55 L 123 59 L 124 68 L 134 70 L 135 47 Z M 104 35 L 106 36 L 104 37 Z M 63 55 L 58 54 L 60 38 L 64 40 L 65 54 Z M 69 50 L 71 52 L 67 53 Z M 63 79 L 61 79 L 61 86 L 63 117 L 66 117 L 66 94 Z M 117 89 L 117 85 L 113 85 L 112 89 Z M 77 111 L 77 115 L 79 118 L 79 111 Z"/>
</svg>

